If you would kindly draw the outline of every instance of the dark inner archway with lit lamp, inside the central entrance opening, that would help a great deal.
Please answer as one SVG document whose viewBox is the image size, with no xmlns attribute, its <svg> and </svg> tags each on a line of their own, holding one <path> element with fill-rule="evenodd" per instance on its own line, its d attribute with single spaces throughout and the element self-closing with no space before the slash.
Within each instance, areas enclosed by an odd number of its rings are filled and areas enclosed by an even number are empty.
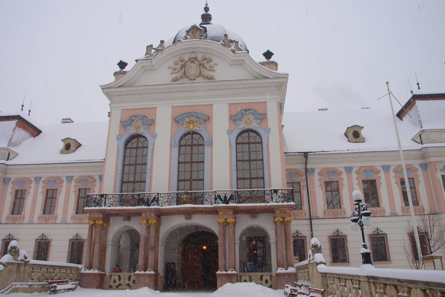
<svg viewBox="0 0 445 297">
<path fill-rule="evenodd" d="M 186 289 L 216 288 L 218 237 L 197 231 L 182 241 L 182 281 Z"/>
</svg>

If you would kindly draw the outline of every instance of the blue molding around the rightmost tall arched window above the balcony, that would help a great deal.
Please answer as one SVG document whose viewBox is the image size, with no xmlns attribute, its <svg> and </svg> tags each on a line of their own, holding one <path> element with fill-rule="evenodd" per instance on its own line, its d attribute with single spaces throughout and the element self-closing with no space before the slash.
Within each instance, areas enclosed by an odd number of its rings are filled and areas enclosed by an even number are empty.
<svg viewBox="0 0 445 297">
<path fill-rule="evenodd" d="M 270 188 L 269 181 L 269 151 L 267 150 L 267 143 L 269 143 L 269 134 L 271 128 L 261 128 L 261 121 L 266 117 L 266 114 L 259 114 L 256 110 L 246 109 L 240 110 L 238 114 L 230 116 L 235 121 L 235 130 L 227 129 L 229 136 L 229 143 L 231 146 L 231 162 L 232 162 L 232 188 L 237 188 L 236 181 L 236 138 L 244 130 L 253 130 L 257 132 L 263 140 L 263 168 L 264 168 L 264 188 Z"/>
</svg>

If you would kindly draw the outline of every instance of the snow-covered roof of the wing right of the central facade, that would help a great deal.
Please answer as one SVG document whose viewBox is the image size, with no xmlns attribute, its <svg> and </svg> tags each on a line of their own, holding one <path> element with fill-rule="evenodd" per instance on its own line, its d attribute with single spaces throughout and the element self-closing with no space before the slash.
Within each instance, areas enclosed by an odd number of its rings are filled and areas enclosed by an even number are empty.
<svg viewBox="0 0 445 297">
<path fill-rule="evenodd" d="M 428 129 L 445 129 L 445 100 L 422 101 L 419 105 L 422 125 Z M 401 145 L 404 150 L 424 146 L 445 146 L 445 143 L 420 145 L 411 140 L 420 130 L 408 120 L 396 118 Z M 285 112 L 283 115 L 284 152 L 359 152 L 397 151 L 397 139 L 391 110 L 327 110 L 314 112 Z M 344 131 L 352 126 L 363 126 L 365 142 L 348 142 Z M 422 130 L 426 128 L 423 127 Z"/>
</svg>

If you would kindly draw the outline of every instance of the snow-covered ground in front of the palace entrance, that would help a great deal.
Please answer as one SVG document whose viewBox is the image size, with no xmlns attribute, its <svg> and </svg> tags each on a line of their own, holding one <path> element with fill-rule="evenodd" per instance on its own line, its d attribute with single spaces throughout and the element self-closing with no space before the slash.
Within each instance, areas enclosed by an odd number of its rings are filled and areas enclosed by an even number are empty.
<svg viewBox="0 0 445 297">
<path fill-rule="evenodd" d="M 11 297 L 36 297 L 48 296 L 48 292 L 44 293 L 12 293 L 8 294 Z M 209 292 L 159 292 L 149 288 L 142 288 L 137 290 L 97 290 L 84 289 L 78 287 L 74 292 L 58 293 L 61 297 L 283 297 L 283 290 L 272 290 L 256 285 L 254 283 L 235 283 L 223 285 L 218 290 Z"/>
</svg>

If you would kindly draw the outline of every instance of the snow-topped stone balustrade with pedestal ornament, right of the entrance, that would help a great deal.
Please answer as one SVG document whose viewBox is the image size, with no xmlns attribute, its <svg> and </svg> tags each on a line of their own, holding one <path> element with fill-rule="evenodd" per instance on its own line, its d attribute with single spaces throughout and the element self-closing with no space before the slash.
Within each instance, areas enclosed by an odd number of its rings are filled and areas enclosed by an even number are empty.
<svg viewBox="0 0 445 297">
<path fill-rule="evenodd" d="M 443 297 L 445 271 L 326 266 L 321 244 L 311 240 L 308 260 L 295 264 L 297 281 L 324 288 L 332 297 Z M 306 273 L 307 271 L 307 273 Z"/>
</svg>

